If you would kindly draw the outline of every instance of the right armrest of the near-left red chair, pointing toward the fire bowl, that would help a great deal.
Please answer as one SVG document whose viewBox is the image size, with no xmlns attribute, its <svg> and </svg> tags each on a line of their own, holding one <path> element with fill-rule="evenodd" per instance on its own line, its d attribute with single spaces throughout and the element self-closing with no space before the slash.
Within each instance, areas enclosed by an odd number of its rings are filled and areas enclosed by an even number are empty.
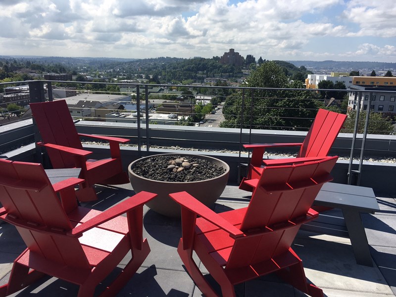
<svg viewBox="0 0 396 297">
<path fill-rule="evenodd" d="M 149 200 L 155 198 L 157 194 L 142 191 L 125 201 L 99 213 L 92 219 L 82 223 L 73 230 L 67 233 L 69 236 L 81 236 L 85 231 L 99 226 L 100 224 L 107 222 L 123 213 L 129 212 L 138 207 L 143 207 L 143 204 L 147 203 Z M 133 222 L 132 222 L 133 223 Z"/>
</svg>

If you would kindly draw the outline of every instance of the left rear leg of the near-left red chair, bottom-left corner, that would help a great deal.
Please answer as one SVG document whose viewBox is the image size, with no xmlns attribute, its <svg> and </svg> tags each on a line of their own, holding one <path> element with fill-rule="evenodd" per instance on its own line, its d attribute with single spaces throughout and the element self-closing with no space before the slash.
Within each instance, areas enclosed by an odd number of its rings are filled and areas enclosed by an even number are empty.
<svg viewBox="0 0 396 297">
<path fill-rule="evenodd" d="M 45 273 L 39 272 L 37 270 L 31 270 L 29 272 L 28 266 L 15 261 L 12 266 L 8 284 L 0 288 L 0 295 L 8 296 L 12 293 L 18 292 L 19 290 L 30 286 L 45 275 Z M 3 291 L 6 292 L 5 295 L 2 295 Z"/>
</svg>

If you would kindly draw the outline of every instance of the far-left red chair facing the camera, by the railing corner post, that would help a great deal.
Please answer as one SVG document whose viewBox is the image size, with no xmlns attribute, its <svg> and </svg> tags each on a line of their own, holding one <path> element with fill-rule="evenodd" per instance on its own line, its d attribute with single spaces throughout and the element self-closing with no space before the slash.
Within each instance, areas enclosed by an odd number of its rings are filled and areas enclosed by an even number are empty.
<svg viewBox="0 0 396 297">
<path fill-rule="evenodd" d="M 97 199 L 92 188 L 95 184 L 129 183 L 127 173 L 122 170 L 119 148 L 119 144 L 128 142 L 128 139 L 77 133 L 65 100 L 31 103 L 30 108 L 43 140 L 38 145 L 47 149 L 52 167 L 81 168 L 80 177 L 85 183 L 77 192 L 80 201 Z M 92 152 L 83 149 L 80 137 L 108 141 L 111 158 L 87 160 Z"/>
</svg>

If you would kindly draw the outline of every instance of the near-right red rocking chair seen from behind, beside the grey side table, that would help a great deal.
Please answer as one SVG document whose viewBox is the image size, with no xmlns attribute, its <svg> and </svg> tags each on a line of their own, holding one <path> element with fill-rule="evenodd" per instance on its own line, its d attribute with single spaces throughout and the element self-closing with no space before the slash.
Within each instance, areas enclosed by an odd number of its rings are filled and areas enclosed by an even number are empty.
<svg viewBox="0 0 396 297">
<path fill-rule="evenodd" d="M 187 192 L 170 194 L 181 205 L 182 238 L 178 252 L 199 290 L 217 296 L 193 259 L 197 253 L 220 285 L 235 297 L 234 285 L 277 272 L 298 290 L 323 296 L 308 285 L 300 258 L 291 244 L 301 224 L 318 216 L 310 208 L 337 157 L 293 165 L 265 167 L 247 207 L 215 213 Z M 200 218 L 197 218 L 197 215 Z"/>
</svg>

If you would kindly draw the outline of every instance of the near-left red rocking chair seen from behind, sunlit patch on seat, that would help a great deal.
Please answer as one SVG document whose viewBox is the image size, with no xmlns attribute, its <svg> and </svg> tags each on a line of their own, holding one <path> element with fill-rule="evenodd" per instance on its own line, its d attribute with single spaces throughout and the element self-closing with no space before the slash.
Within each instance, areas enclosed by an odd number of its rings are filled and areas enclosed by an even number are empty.
<svg viewBox="0 0 396 297">
<path fill-rule="evenodd" d="M 52 186 L 41 164 L 0 159 L 0 219 L 15 225 L 27 246 L 0 296 L 46 274 L 80 285 L 79 297 L 93 296 L 131 251 L 132 259 L 101 295 L 114 296 L 146 259 L 143 205 L 156 195 L 140 192 L 101 212 L 77 206 L 74 186 L 81 182 L 70 178 Z"/>
</svg>

